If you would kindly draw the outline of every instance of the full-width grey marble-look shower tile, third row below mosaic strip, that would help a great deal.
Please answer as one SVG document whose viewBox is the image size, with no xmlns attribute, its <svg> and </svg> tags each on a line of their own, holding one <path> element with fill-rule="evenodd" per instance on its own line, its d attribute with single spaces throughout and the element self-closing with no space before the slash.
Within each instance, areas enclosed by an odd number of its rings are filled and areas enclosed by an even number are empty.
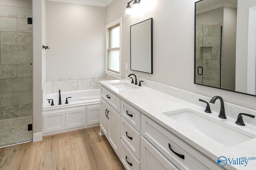
<svg viewBox="0 0 256 170">
<path fill-rule="evenodd" d="M 1 79 L 1 93 L 32 90 L 32 77 Z"/>
</svg>

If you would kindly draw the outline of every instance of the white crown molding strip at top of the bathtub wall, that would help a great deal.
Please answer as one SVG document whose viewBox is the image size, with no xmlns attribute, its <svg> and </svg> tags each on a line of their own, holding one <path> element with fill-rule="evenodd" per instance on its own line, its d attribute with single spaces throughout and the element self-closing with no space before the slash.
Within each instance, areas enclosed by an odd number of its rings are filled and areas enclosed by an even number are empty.
<svg viewBox="0 0 256 170">
<path fill-rule="evenodd" d="M 113 0 L 49 0 L 56 2 L 66 2 L 72 4 L 92 5 L 92 6 L 108 6 Z"/>
</svg>

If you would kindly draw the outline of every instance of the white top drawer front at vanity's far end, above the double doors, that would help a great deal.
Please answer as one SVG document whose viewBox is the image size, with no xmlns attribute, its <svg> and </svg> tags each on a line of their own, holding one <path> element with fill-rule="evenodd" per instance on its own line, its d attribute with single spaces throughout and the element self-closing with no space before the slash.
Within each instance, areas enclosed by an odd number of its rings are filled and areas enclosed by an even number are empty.
<svg viewBox="0 0 256 170">
<path fill-rule="evenodd" d="M 105 89 L 104 87 L 100 88 L 100 96 L 107 101 L 107 103 L 112 106 L 118 113 L 120 113 L 120 103 L 121 99 Z"/>
</svg>

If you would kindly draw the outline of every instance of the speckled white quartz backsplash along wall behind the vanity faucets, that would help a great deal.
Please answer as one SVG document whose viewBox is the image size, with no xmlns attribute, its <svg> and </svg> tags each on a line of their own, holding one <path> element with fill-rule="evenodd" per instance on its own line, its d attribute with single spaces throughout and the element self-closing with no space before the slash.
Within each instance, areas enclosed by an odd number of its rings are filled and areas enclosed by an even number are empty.
<svg viewBox="0 0 256 170">
<path fill-rule="evenodd" d="M 128 81 L 130 81 L 128 74 L 126 74 L 126 79 Z M 210 99 L 212 99 L 212 97 L 213 97 L 213 96 L 207 97 L 207 96 L 203 96 L 203 95 L 198 95 L 198 94 L 192 93 L 190 91 L 185 91 L 185 90 L 171 87 L 168 85 L 164 85 L 161 83 L 156 83 L 154 81 L 149 81 L 146 79 L 142 79 L 140 77 L 137 77 L 137 79 L 138 79 L 138 82 L 141 80 L 144 81 L 142 83 L 142 86 L 146 86 L 151 89 L 160 91 L 162 93 L 166 93 L 168 95 L 171 95 L 178 99 L 182 99 L 184 101 L 188 101 L 188 102 L 198 105 L 200 107 L 205 107 L 205 103 L 198 101 L 198 99 L 210 101 Z M 210 103 L 210 106 L 211 106 L 212 111 L 220 112 L 220 101 L 217 100 L 215 104 Z M 248 114 L 256 115 L 256 110 L 248 109 L 248 108 L 245 108 L 245 107 L 242 107 L 239 105 L 234 105 L 234 104 L 228 103 L 228 102 L 225 102 L 225 111 L 226 111 L 227 116 L 232 117 L 234 119 L 237 119 L 237 115 L 239 113 L 248 113 Z M 248 123 L 248 124 L 256 126 L 256 119 L 252 119 L 252 118 L 249 119 L 248 117 L 243 117 L 243 119 L 244 119 L 244 123 Z"/>
</svg>

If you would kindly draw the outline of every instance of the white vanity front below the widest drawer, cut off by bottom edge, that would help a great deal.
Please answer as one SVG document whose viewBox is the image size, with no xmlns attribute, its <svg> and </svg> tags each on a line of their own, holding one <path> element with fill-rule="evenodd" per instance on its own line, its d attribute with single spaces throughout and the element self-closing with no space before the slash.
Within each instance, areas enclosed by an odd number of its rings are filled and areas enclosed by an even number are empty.
<svg viewBox="0 0 256 170">
<path fill-rule="evenodd" d="M 141 170 L 176 170 L 175 168 L 170 160 L 141 137 Z"/>
</svg>

